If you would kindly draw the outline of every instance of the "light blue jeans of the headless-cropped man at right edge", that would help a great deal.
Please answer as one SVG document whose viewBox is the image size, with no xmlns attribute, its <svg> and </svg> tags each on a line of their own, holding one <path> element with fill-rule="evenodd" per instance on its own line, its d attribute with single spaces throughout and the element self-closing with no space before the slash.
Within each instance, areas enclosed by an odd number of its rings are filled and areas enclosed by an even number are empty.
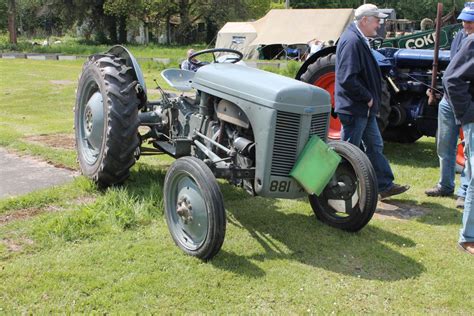
<svg viewBox="0 0 474 316">
<path fill-rule="evenodd" d="M 464 170 L 469 179 L 464 202 L 464 213 L 462 217 L 462 228 L 459 233 L 459 242 L 474 242 L 474 123 L 464 124 L 464 155 L 466 165 Z"/>
</svg>

